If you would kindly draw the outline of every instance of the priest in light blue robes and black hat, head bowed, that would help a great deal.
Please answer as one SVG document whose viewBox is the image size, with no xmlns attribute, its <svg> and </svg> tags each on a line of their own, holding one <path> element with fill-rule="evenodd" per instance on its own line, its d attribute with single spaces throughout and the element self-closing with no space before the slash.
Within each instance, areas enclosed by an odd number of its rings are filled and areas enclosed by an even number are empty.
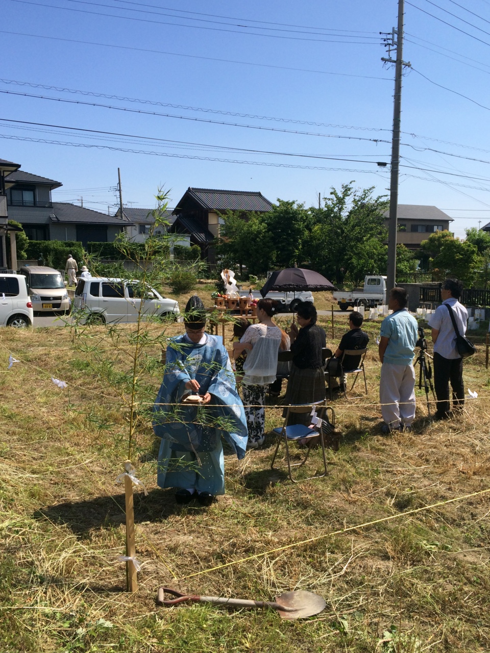
<svg viewBox="0 0 490 653">
<path fill-rule="evenodd" d="M 171 338 L 165 373 L 155 401 L 155 435 L 161 438 L 157 483 L 176 488 L 176 502 L 197 499 L 210 505 L 225 494 L 221 436 L 245 455 L 245 412 L 227 350 L 219 336 L 205 332 L 206 312 L 194 295 L 184 315 L 186 333 Z M 188 404 L 189 395 L 201 402 Z"/>
</svg>

